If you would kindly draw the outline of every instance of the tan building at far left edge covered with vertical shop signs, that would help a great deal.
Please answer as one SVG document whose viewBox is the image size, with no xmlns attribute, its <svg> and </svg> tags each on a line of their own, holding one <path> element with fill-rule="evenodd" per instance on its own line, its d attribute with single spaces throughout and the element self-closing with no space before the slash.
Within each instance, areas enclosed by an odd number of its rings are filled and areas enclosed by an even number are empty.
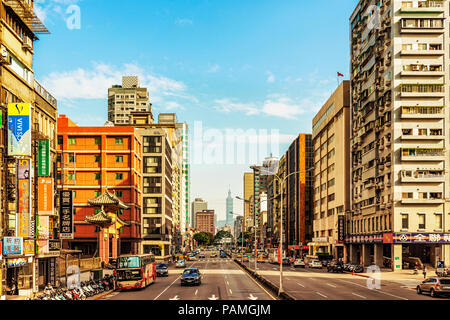
<svg viewBox="0 0 450 320">
<path fill-rule="evenodd" d="M 49 241 L 59 241 L 56 227 L 47 229 L 48 233 L 46 232 L 40 241 L 37 241 L 35 233 L 35 226 L 39 227 L 43 225 L 44 220 L 53 221 L 57 217 L 57 211 L 53 208 L 45 219 L 41 219 L 41 224 L 38 224 L 39 220 L 36 219 L 39 198 L 35 186 L 39 178 L 54 178 L 53 167 L 56 159 L 57 102 L 35 81 L 33 71 L 34 41 L 38 40 L 38 35 L 49 34 L 49 31 L 34 14 L 33 0 L 2 1 L 0 27 L 0 241 L 4 248 L 10 241 L 23 241 L 22 247 L 16 247 L 20 249 L 18 254 L 3 254 L 0 260 L 0 297 L 3 297 L 7 293 L 6 287 L 11 288 L 13 285 L 17 288 L 15 294 L 30 295 L 39 290 L 40 279 L 55 283 L 58 276 L 55 272 L 55 257 L 59 256 L 59 249 L 57 245 L 53 252 L 45 249 L 48 248 Z M 16 109 L 16 103 L 26 105 L 17 106 L 16 113 L 12 111 Z M 10 104 L 13 104 L 11 108 Z M 28 151 L 20 152 L 20 155 L 11 152 L 14 147 L 8 143 L 8 138 L 13 136 L 8 133 L 18 130 L 9 127 L 8 116 L 22 116 L 24 123 L 29 123 L 29 126 L 22 127 L 25 130 L 21 133 L 27 138 L 22 139 L 20 143 L 20 149 Z M 15 134 L 18 138 L 17 131 Z M 38 172 L 42 164 L 40 160 L 43 158 L 42 154 L 38 155 L 36 152 L 40 143 L 38 140 L 43 140 L 46 144 L 44 153 L 48 167 L 45 172 L 41 171 L 42 168 Z M 29 186 L 29 189 L 26 188 L 27 193 L 23 193 L 24 189 L 20 186 L 16 187 L 20 178 L 19 163 L 25 163 L 22 160 L 30 166 L 29 170 L 35 170 L 24 179 L 25 182 L 22 181 Z M 22 214 L 19 212 L 21 200 L 24 200 L 22 204 L 26 204 L 26 208 L 21 207 L 26 210 L 22 211 Z M 26 227 L 16 228 L 18 225 Z M 22 263 L 15 264 L 15 261 Z"/>
</svg>

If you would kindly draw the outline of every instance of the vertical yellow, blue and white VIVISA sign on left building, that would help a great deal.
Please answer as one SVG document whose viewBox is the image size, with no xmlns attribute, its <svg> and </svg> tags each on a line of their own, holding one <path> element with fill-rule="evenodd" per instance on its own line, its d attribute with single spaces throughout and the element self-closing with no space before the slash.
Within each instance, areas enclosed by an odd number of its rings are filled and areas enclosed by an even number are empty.
<svg viewBox="0 0 450 320">
<path fill-rule="evenodd" d="M 8 103 L 8 155 L 31 157 L 29 103 Z"/>
</svg>

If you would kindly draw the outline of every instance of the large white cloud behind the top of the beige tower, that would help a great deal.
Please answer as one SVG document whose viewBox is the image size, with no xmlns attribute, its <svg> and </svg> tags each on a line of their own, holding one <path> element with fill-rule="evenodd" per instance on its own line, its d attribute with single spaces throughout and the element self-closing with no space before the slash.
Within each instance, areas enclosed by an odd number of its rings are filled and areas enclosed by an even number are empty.
<svg viewBox="0 0 450 320">
<path fill-rule="evenodd" d="M 174 79 L 160 75 L 148 74 L 135 64 L 125 64 L 118 68 L 107 64 L 94 63 L 92 68 L 64 72 L 53 72 L 42 79 L 43 86 L 57 99 L 106 99 L 108 88 L 122 83 L 122 76 L 136 75 L 142 87 L 150 93 L 152 103 L 166 102 L 168 108 L 180 108 L 173 99 L 191 102 L 198 100 L 188 94 L 187 86 Z"/>
</svg>

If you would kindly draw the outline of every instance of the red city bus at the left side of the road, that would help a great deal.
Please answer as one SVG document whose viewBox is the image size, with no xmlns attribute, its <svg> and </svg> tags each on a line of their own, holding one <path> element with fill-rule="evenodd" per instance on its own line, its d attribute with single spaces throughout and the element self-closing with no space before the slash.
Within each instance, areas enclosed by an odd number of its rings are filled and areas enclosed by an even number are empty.
<svg viewBox="0 0 450 320">
<path fill-rule="evenodd" d="M 153 253 L 123 255 L 117 258 L 114 269 L 116 289 L 141 289 L 156 280 L 156 263 Z"/>
</svg>

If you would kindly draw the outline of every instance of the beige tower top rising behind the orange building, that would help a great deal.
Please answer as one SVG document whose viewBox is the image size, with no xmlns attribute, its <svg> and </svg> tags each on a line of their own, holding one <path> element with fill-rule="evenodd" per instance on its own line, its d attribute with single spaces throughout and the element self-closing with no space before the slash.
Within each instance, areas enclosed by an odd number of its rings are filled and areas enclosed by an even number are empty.
<svg viewBox="0 0 450 320">
<path fill-rule="evenodd" d="M 131 113 L 149 113 L 153 122 L 152 105 L 147 88 L 141 88 L 137 76 L 123 76 L 122 85 L 108 89 L 108 121 L 115 125 L 130 125 Z"/>
</svg>

